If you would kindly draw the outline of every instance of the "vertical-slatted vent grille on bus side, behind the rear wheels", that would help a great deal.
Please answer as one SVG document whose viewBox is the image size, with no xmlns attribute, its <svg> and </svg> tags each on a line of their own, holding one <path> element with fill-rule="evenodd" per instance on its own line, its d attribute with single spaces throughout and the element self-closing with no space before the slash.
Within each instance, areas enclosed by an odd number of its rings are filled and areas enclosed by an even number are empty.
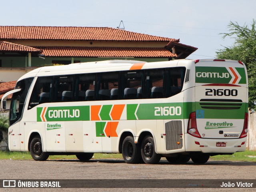
<svg viewBox="0 0 256 192">
<path fill-rule="evenodd" d="M 172 120 L 165 123 L 166 150 L 182 148 L 182 121 Z"/>
</svg>

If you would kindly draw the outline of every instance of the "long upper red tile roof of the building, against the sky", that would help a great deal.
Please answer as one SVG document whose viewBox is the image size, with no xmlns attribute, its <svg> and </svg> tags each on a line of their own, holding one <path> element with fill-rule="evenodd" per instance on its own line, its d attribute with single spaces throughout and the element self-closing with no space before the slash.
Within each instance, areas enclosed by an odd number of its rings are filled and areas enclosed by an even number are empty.
<svg viewBox="0 0 256 192">
<path fill-rule="evenodd" d="M 164 38 L 109 27 L 0 26 L 0 39 L 162 41 Z"/>
</svg>

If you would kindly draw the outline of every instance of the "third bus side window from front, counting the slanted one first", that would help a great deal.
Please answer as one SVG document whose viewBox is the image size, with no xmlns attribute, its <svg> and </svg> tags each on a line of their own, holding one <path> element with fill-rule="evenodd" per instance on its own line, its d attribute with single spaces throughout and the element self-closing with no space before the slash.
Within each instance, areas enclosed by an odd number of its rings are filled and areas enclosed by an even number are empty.
<svg viewBox="0 0 256 192">
<path fill-rule="evenodd" d="M 94 101 L 96 74 L 76 76 L 74 101 Z"/>
</svg>

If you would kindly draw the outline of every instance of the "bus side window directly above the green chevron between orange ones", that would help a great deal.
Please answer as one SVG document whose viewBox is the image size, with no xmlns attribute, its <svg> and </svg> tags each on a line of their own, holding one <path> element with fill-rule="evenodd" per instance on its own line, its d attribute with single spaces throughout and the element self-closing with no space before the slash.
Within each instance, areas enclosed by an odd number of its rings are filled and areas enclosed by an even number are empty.
<svg viewBox="0 0 256 192">
<path fill-rule="evenodd" d="M 118 97 L 118 79 L 119 72 L 98 73 L 96 100 L 116 99 Z"/>
</svg>

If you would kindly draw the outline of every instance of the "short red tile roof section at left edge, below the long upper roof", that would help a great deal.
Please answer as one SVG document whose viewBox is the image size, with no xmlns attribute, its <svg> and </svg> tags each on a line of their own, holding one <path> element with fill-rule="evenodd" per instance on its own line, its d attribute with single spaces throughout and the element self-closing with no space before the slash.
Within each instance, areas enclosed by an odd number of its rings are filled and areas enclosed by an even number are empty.
<svg viewBox="0 0 256 192">
<path fill-rule="evenodd" d="M 5 51 L 5 52 L 42 52 L 40 49 L 36 49 L 33 47 L 29 46 L 24 46 L 20 44 L 15 44 L 15 43 L 10 43 L 10 42 L 5 42 L 5 41 L 0 41 L 0 51 Z"/>
</svg>

